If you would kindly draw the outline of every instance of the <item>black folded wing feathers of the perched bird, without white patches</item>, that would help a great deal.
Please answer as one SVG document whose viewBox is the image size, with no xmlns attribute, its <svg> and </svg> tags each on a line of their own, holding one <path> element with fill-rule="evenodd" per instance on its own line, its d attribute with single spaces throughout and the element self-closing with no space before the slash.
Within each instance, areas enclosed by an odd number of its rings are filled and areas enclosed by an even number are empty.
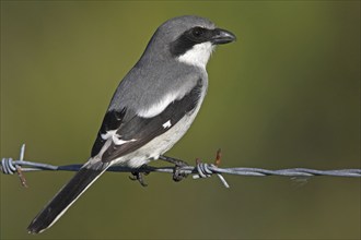
<svg viewBox="0 0 361 240">
<path fill-rule="evenodd" d="M 124 121 L 127 109 L 121 111 L 108 111 L 103 120 L 102 128 L 92 149 L 92 157 L 97 155 L 106 140 L 102 134 L 107 131 L 117 130 L 123 141 L 129 141 L 121 145 L 112 142 L 110 146 L 103 153 L 102 161 L 110 161 L 115 158 L 127 155 L 149 143 L 154 137 L 173 128 L 185 115 L 190 113 L 197 106 L 200 98 L 202 82 L 198 81 L 196 86 L 182 99 L 171 103 L 160 115 L 153 118 L 142 118 L 135 115 L 130 120 Z M 170 121 L 171 127 L 163 124 Z M 130 141 L 135 140 L 135 141 Z"/>
</svg>

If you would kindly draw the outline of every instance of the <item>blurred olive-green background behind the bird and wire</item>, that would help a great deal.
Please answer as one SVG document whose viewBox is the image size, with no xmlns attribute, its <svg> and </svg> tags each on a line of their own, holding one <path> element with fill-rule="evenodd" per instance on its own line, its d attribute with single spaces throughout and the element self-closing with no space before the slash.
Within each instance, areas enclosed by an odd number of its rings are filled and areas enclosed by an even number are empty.
<svg viewBox="0 0 361 240">
<path fill-rule="evenodd" d="M 197 14 L 235 33 L 167 155 L 223 167 L 360 168 L 360 1 L 1 1 L 1 157 L 84 163 L 119 80 L 155 28 Z M 155 165 L 162 165 L 156 163 Z M 164 165 L 164 164 L 163 164 Z M 26 233 L 72 172 L 1 175 L 1 239 L 360 239 L 360 179 L 106 173 Z"/>
</svg>

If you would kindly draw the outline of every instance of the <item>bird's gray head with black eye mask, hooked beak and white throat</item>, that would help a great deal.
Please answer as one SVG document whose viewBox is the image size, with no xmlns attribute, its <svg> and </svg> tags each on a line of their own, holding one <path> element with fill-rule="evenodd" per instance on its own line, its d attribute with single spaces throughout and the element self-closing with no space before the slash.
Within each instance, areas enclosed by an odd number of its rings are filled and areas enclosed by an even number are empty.
<svg viewBox="0 0 361 240">
<path fill-rule="evenodd" d="M 155 32 L 147 51 L 162 52 L 160 57 L 171 57 L 179 62 L 206 69 L 217 45 L 232 43 L 235 35 L 216 27 L 203 17 L 185 15 L 171 19 Z"/>
</svg>

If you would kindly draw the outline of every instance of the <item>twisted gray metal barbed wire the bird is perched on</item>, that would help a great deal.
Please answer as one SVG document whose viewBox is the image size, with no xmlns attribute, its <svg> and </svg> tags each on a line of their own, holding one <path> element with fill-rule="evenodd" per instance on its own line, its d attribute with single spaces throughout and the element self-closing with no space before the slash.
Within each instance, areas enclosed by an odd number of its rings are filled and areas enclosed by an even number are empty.
<svg viewBox="0 0 361 240">
<path fill-rule="evenodd" d="M 53 171 L 78 171 L 83 165 L 65 165 L 55 166 L 49 164 L 42 164 L 35 161 L 24 160 L 25 144 L 22 145 L 20 151 L 19 160 L 13 160 L 12 158 L 2 158 L 0 171 L 5 175 L 18 173 L 21 183 L 26 187 L 26 180 L 22 172 L 25 171 L 42 171 L 42 170 L 53 170 Z M 166 160 L 170 157 L 161 156 L 160 159 Z M 173 158 L 172 158 L 173 159 Z M 360 178 L 361 169 L 336 169 L 336 170 L 316 170 L 308 168 L 287 168 L 279 170 L 269 170 L 263 168 L 220 168 L 220 152 L 217 155 L 216 164 L 206 164 L 197 160 L 196 166 L 180 166 L 177 167 L 177 171 L 184 176 L 193 175 L 194 179 L 209 178 L 212 175 L 217 175 L 223 185 L 229 188 L 228 182 L 223 178 L 222 173 L 226 175 L 237 175 L 237 176 L 254 176 L 254 177 L 265 177 L 265 176 L 283 176 L 283 177 L 313 177 L 313 176 L 331 176 L 331 177 L 352 177 Z M 174 167 L 152 167 L 142 166 L 140 168 L 133 169 L 123 166 L 114 166 L 107 169 L 107 171 L 117 172 L 165 172 L 174 173 Z"/>
</svg>

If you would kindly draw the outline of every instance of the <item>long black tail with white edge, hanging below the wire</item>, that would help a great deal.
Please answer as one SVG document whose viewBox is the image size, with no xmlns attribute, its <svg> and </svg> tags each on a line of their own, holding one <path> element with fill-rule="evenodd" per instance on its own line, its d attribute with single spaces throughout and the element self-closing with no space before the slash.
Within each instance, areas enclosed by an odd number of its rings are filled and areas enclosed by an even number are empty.
<svg viewBox="0 0 361 240">
<path fill-rule="evenodd" d="M 39 233 L 51 227 L 105 169 L 81 168 L 33 219 L 27 227 L 28 233 Z"/>
</svg>

